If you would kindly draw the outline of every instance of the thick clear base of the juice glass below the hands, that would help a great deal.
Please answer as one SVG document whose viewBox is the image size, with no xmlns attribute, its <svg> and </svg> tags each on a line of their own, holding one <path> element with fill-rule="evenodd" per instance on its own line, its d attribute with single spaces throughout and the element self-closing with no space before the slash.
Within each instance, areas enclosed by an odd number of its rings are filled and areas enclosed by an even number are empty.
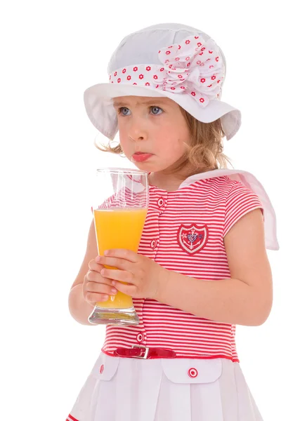
<svg viewBox="0 0 307 421">
<path fill-rule="evenodd" d="M 92 324 L 137 326 L 140 323 L 134 307 L 129 309 L 106 309 L 96 306 L 89 315 Z"/>
</svg>

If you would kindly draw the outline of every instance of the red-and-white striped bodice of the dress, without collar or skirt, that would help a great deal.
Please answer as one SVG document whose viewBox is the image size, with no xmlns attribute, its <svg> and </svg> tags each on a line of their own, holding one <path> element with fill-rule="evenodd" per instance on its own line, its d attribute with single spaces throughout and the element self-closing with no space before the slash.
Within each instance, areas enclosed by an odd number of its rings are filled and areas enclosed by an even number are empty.
<svg viewBox="0 0 307 421">
<path fill-rule="evenodd" d="M 150 203 L 138 253 L 171 271 L 218 282 L 230 278 L 224 236 L 246 213 L 256 208 L 263 212 L 263 203 L 252 189 L 228 175 L 205 179 L 202 175 L 174 192 L 149 187 Z M 133 299 L 133 304 L 140 324 L 108 325 L 105 354 L 143 345 L 173 349 L 177 358 L 239 362 L 235 325 L 204 319 L 156 300 Z"/>
</svg>

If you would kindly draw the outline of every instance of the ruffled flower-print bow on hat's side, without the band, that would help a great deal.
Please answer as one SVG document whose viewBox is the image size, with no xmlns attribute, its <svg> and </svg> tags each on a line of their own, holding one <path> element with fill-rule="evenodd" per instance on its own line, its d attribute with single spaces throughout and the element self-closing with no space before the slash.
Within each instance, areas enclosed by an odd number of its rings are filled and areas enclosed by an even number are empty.
<svg viewBox="0 0 307 421">
<path fill-rule="evenodd" d="M 225 67 L 213 39 L 188 36 L 181 44 L 162 48 L 159 59 L 165 72 L 156 81 L 164 91 L 185 91 L 204 106 L 219 97 Z"/>
</svg>

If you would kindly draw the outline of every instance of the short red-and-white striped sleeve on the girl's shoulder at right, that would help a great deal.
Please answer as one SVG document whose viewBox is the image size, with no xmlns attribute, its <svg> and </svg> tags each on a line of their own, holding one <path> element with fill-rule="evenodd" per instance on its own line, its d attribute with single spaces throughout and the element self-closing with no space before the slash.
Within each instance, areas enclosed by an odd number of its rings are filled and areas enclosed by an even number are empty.
<svg viewBox="0 0 307 421">
<path fill-rule="evenodd" d="M 223 237 L 226 236 L 230 228 L 233 227 L 235 222 L 240 220 L 243 215 L 246 215 L 251 210 L 257 208 L 261 209 L 263 215 L 263 204 L 261 203 L 259 196 L 251 189 L 244 186 L 240 181 L 235 182 L 235 185 L 230 189 L 226 199 Z"/>
</svg>

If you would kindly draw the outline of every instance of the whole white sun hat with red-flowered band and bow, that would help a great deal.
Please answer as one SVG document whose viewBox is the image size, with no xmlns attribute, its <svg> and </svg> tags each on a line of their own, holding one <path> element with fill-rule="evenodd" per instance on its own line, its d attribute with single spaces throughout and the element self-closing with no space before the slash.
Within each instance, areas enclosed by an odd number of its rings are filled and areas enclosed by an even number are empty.
<svg viewBox="0 0 307 421">
<path fill-rule="evenodd" d="M 113 98 L 167 97 L 204 123 L 221 118 L 226 139 L 241 126 L 241 112 L 221 101 L 226 60 L 204 32 L 176 23 L 153 25 L 126 36 L 112 54 L 109 80 L 87 88 L 84 104 L 98 131 L 118 131 Z"/>
</svg>

